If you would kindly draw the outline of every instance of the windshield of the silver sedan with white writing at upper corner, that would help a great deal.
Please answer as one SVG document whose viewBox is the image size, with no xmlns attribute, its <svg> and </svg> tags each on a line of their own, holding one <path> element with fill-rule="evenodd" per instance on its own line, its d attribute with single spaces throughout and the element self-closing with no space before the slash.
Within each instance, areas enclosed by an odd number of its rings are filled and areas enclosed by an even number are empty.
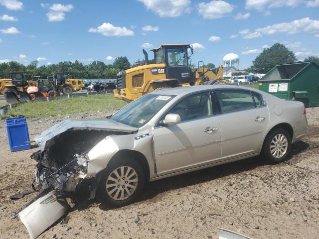
<svg viewBox="0 0 319 239">
<path fill-rule="evenodd" d="M 110 119 L 133 127 L 141 127 L 174 97 L 171 95 L 146 95 L 133 101 Z"/>
</svg>

